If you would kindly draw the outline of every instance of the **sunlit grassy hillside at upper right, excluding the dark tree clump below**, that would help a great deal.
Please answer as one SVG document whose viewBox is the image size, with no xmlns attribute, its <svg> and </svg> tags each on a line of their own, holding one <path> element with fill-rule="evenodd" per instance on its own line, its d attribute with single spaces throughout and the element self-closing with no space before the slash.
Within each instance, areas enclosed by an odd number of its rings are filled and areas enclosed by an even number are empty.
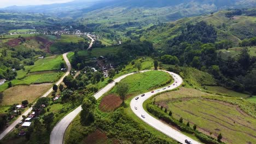
<svg viewBox="0 0 256 144">
<path fill-rule="evenodd" d="M 185 17 L 175 22 L 167 23 L 163 26 L 157 26 L 150 31 L 146 31 L 142 34 L 141 40 L 149 40 L 154 43 L 155 46 L 161 48 L 165 46 L 165 43 L 176 37 L 181 33 L 179 29 L 181 26 L 185 26 L 186 23 L 196 23 L 199 21 L 206 21 L 209 25 L 213 25 L 216 28 L 218 38 L 217 40 L 229 39 L 234 44 L 238 44 L 241 39 L 255 37 L 256 28 L 254 27 L 256 17 L 253 16 L 236 16 L 234 20 L 225 17 L 225 13 L 228 11 L 219 11 L 213 15 Z M 225 23 L 225 27 L 223 27 Z M 175 26 L 173 27 L 174 24 Z"/>
</svg>

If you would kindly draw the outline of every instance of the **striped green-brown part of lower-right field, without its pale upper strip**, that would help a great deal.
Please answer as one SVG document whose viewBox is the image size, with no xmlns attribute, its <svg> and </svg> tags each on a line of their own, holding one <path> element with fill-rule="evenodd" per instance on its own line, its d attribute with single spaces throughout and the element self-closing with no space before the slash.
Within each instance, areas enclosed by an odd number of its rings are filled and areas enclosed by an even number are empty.
<svg viewBox="0 0 256 144">
<path fill-rule="evenodd" d="M 255 143 L 256 121 L 236 106 L 219 101 L 184 100 L 168 105 L 174 117 L 185 123 L 195 123 L 206 134 L 217 137 L 222 133 L 227 143 Z"/>
</svg>

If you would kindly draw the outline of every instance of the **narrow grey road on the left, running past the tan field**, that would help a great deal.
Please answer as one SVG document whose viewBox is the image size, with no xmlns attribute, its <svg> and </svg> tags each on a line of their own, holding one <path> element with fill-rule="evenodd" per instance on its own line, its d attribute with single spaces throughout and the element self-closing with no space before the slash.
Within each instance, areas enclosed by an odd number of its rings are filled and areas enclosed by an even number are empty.
<svg viewBox="0 0 256 144">
<path fill-rule="evenodd" d="M 67 53 L 68 53 L 68 52 L 67 52 Z M 70 70 L 71 70 L 71 64 L 70 64 L 70 62 L 68 61 L 67 53 L 64 53 L 64 54 L 63 54 L 63 58 L 64 58 L 64 60 L 65 60 L 65 62 L 66 62 L 66 64 L 67 64 L 67 67 L 68 67 L 67 72 L 66 72 L 65 75 L 63 75 L 63 76 L 61 77 L 61 79 L 60 79 L 59 81 L 57 81 L 56 85 L 60 85 L 60 83 L 63 81 L 64 77 L 67 76 L 67 75 L 69 75 L 69 72 L 70 72 Z M 44 95 L 42 95 L 41 98 L 47 97 L 47 95 L 49 95 L 51 92 L 53 92 L 53 88 L 50 88 Z M 32 107 L 31 107 L 30 109 L 26 110 L 24 113 L 22 113 L 22 115 L 25 115 L 25 116 L 26 116 L 26 115 L 28 115 L 28 113 L 30 113 L 31 111 L 32 111 Z M 22 121 L 22 116 L 18 117 L 18 118 L 16 119 L 16 121 L 14 121 L 11 125 L 9 125 L 9 127 L 8 127 L 7 129 L 5 129 L 5 130 L 0 134 L 0 140 L 2 140 L 5 135 L 7 135 L 11 130 L 13 130 L 13 128 L 14 128 L 17 124 L 19 124 L 20 121 Z"/>
</svg>

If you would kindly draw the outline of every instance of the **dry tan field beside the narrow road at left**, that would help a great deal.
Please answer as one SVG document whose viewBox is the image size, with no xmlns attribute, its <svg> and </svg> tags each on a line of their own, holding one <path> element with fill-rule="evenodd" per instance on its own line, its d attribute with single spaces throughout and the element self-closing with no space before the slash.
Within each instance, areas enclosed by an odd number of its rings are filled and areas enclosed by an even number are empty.
<svg viewBox="0 0 256 144">
<path fill-rule="evenodd" d="M 44 92 L 50 89 L 51 83 L 48 85 L 30 85 L 30 86 L 15 86 L 8 88 L 3 92 L 4 98 L 1 105 L 21 104 L 21 101 L 28 100 L 32 103 L 39 98 Z M 33 89 L 33 91 L 31 91 Z"/>
</svg>

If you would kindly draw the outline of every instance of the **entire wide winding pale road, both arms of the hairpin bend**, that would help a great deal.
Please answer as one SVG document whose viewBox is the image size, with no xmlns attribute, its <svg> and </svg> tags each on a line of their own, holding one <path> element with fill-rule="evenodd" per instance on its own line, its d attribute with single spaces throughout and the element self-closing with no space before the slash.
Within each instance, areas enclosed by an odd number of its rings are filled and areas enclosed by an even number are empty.
<svg viewBox="0 0 256 144">
<path fill-rule="evenodd" d="M 150 71 L 150 70 L 144 70 L 144 71 L 141 71 L 141 73 L 144 73 L 146 71 Z M 165 71 L 165 70 L 161 70 L 161 71 Z M 138 96 L 139 97 L 138 100 L 135 100 L 135 98 L 132 99 L 131 104 L 130 104 L 131 109 L 135 113 L 136 116 L 138 116 L 139 118 L 142 119 L 142 121 L 148 123 L 149 125 L 151 125 L 155 129 L 161 131 L 162 133 L 171 137 L 172 139 L 177 140 L 181 143 L 185 143 L 185 140 L 189 140 L 193 144 L 199 143 L 197 141 L 191 140 L 190 137 L 188 137 L 188 136 L 180 133 L 179 131 L 171 128 L 167 124 L 162 123 L 161 121 L 159 121 L 159 119 L 156 119 L 156 118 L 150 116 L 143 109 L 143 102 L 145 100 L 147 100 L 148 98 L 150 98 L 152 95 L 154 95 L 156 93 L 160 93 L 160 92 L 164 92 L 164 91 L 168 91 L 168 90 L 177 88 L 178 86 L 180 86 L 182 84 L 183 81 L 182 81 L 182 78 L 179 75 L 171 73 L 169 71 L 165 71 L 165 72 L 172 75 L 174 80 L 177 81 L 177 83 L 174 82 L 175 85 L 172 84 L 170 87 L 166 87 L 166 89 L 157 89 L 154 93 L 151 93 L 151 92 L 145 93 L 144 97 Z M 119 82 L 122 79 L 124 79 L 125 77 L 127 77 L 129 75 L 132 75 L 132 74 L 135 74 L 135 73 L 130 73 L 130 74 L 126 74 L 126 75 L 118 77 L 113 82 L 109 83 L 106 87 L 102 88 L 100 91 L 98 91 L 96 94 L 94 94 L 94 97 L 96 99 L 100 98 L 104 93 L 107 93 L 110 89 L 112 89 L 115 86 L 116 82 Z M 135 107 L 137 107 L 137 110 L 135 109 Z M 67 116 L 65 116 L 63 119 L 61 119 L 61 121 L 59 123 L 57 123 L 55 125 L 53 131 L 51 131 L 50 144 L 62 144 L 63 143 L 63 138 L 64 138 L 65 131 L 66 131 L 68 125 L 71 124 L 73 119 L 79 114 L 80 111 L 82 111 L 81 106 L 77 107 L 77 109 L 75 109 L 74 111 L 69 113 Z M 144 115 L 145 118 L 142 118 L 141 115 Z"/>
</svg>

